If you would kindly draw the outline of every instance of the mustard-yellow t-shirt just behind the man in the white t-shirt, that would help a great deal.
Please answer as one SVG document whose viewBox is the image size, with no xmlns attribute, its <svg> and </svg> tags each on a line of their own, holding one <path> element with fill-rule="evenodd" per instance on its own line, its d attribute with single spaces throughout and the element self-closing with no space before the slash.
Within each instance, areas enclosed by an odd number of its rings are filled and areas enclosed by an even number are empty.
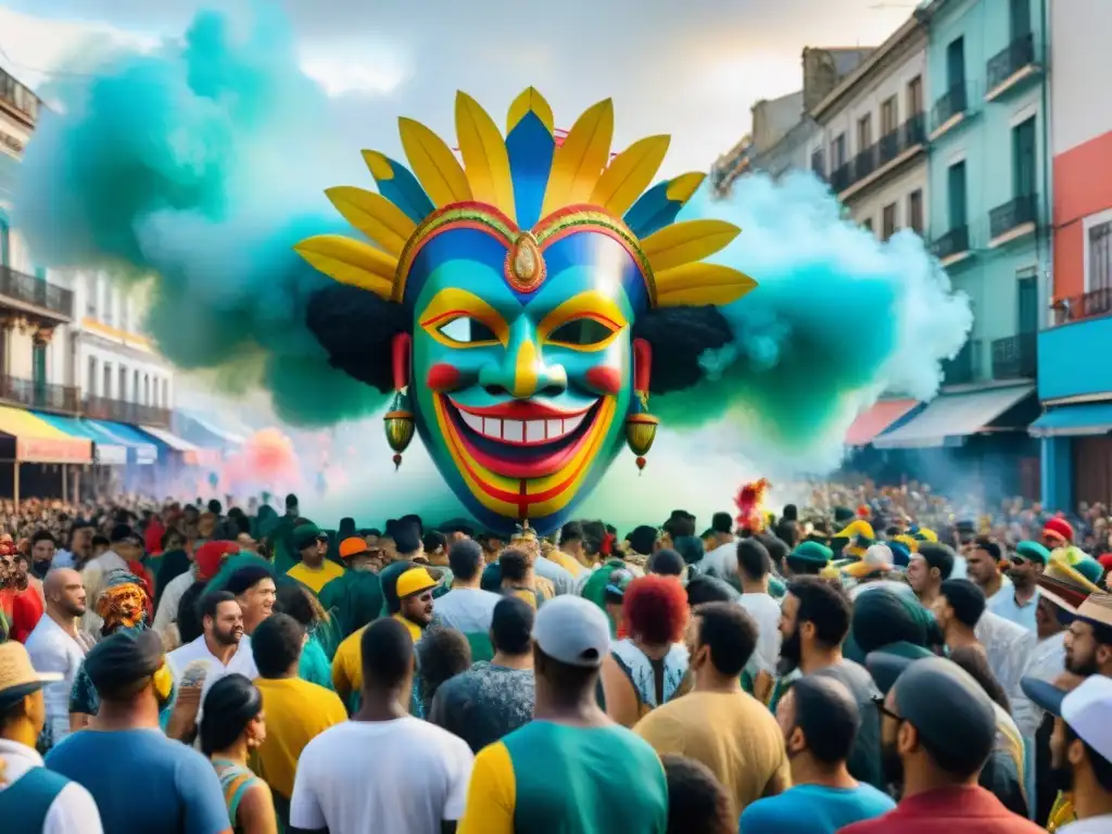
<svg viewBox="0 0 1112 834">
<path fill-rule="evenodd" d="M 251 770 L 286 800 L 294 795 L 294 773 L 305 745 L 328 727 L 347 721 L 335 692 L 299 677 L 257 678 L 267 717 L 267 737 L 252 755 Z"/>
</svg>

